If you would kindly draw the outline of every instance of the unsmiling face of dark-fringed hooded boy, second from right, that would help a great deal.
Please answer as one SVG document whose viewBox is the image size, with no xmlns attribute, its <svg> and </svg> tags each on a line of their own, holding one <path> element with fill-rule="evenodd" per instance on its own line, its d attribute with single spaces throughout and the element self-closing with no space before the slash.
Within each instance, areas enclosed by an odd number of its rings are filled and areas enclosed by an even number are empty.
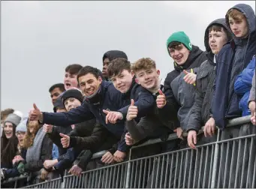
<svg viewBox="0 0 256 189">
<path fill-rule="evenodd" d="M 218 54 L 222 46 L 227 43 L 227 34 L 224 29 L 221 27 L 216 30 L 209 31 L 209 47 L 212 50 L 213 54 Z"/>
</svg>

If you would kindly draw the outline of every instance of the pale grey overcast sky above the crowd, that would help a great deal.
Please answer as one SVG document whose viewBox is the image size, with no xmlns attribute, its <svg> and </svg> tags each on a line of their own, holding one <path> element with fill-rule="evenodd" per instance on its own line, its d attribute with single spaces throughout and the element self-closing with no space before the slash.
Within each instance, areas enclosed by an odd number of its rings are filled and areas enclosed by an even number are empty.
<svg viewBox="0 0 256 189">
<path fill-rule="evenodd" d="M 48 92 L 70 64 L 102 68 L 110 49 L 173 70 L 165 42 L 185 31 L 205 50 L 204 31 L 233 5 L 254 1 L 1 1 L 1 110 L 53 111 Z"/>
</svg>

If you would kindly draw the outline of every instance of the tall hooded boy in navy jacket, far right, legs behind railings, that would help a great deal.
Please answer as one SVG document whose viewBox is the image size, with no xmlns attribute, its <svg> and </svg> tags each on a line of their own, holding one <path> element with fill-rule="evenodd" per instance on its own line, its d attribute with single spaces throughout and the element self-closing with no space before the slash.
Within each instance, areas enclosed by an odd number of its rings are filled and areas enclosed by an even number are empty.
<svg viewBox="0 0 256 189">
<path fill-rule="evenodd" d="M 216 76 L 214 97 L 212 99 L 212 115 L 220 132 L 220 140 L 248 136 L 255 133 L 251 123 L 227 127 L 230 119 L 239 118 L 242 111 L 239 109 L 241 96 L 234 90 L 236 77 L 247 67 L 256 51 L 256 17 L 251 6 L 238 4 L 227 10 L 226 24 L 233 34 L 233 40 L 225 44 L 216 57 Z M 241 148 L 236 148 L 237 144 Z M 220 187 L 246 187 L 246 181 L 253 179 L 251 172 L 242 172 L 248 169 L 250 162 L 250 147 L 244 139 L 234 141 L 233 148 L 229 142 L 221 144 Z M 247 151 L 247 152 L 246 152 Z M 235 157 L 227 154 L 236 154 Z M 231 163 L 235 162 L 235 163 Z M 230 164 L 226 169 L 224 164 Z M 228 178 L 224 175 L 230 175 Z M 238 178 L 238 179 L 237 179 Z M 241 178 L 241 179 L 240 179 Z M 229 179 L 229 181 L 227 181 Z"/>
</svg>

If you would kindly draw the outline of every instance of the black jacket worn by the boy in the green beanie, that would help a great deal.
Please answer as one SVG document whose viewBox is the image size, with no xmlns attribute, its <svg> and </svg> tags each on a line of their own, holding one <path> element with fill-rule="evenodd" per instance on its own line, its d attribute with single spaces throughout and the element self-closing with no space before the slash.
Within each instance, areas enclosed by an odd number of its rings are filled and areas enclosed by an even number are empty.
<svg viewBox="0 0 256 189">
<path fill-rule="evenodd" d="M 164 108 L 159 109 L 159 113 L 162 118 L 168 118 L 175 122 L 175 124 L 179 124 L 177 119 L 177 112 L 179 110 L 179 102 L 176 101 L 173 89 L 171 88 L 171 83 L 173 80 L 182 73 L 183 70 L 189 70 L 191 68 L 198 68 L 200 65 L 206 61 L 206 52 L 203 52 L 199 49 L 198 46 L 192 46 L 192 50 L 188 55 L 188 59 L 184 65 L 179 66 L 174 62 L 174 70 L 167 74 L 166 79 L 164 80 L 164 95 L 167 98 L 167 104 Z M 196 74 L 196 73 L 195 73 Z M 176 93 L 176 92 L 175 92 Z M 166 121 L 166 120 L 162 120 Z"/>
</svg>

